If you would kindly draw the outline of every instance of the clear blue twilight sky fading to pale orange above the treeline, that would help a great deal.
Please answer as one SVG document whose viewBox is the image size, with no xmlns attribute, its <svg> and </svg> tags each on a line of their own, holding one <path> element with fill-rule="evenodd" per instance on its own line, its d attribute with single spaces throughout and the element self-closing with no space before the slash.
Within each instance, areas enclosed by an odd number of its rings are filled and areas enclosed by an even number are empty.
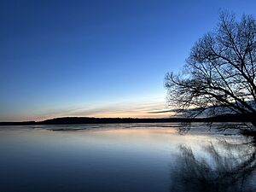
<svg viewBox="0 0 256 192">
<path fill-rule="evenodd" d="M 164 77 L 251 0 L 0 2 L 0 121 L 169 117 Z"/>
</svg>

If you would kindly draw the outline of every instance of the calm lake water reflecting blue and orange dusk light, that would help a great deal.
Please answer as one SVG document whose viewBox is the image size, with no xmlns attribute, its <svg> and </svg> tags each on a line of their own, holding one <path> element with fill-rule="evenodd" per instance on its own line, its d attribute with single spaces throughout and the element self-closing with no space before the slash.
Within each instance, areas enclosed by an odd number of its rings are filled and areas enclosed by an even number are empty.
<svg viewBox="0 0 256 192">
<path fill-rule="evenodd" d="M 250 138 L 176 127 L 0 126 L 0 191 L 256 191 Z"/>
</svg>

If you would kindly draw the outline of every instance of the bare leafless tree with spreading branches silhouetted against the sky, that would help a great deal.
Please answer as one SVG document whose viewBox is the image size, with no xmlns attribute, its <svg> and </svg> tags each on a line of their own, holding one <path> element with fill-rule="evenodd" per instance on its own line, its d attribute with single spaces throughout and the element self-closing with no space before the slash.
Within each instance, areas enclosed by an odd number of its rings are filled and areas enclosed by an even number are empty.
<svg viewBox="0 0 256 192">
<path fill-rule="evenodd" d="M 206 111 L 253 117 L 255 76 L 256 20 L 252 15 L 236 20 L 235 15 L 221 12 L 218 26 L 191 49 L 183 71 L 166 74 L 168 101 L 183 111 L 195 108 L 193 117 Z"/>
</svg>

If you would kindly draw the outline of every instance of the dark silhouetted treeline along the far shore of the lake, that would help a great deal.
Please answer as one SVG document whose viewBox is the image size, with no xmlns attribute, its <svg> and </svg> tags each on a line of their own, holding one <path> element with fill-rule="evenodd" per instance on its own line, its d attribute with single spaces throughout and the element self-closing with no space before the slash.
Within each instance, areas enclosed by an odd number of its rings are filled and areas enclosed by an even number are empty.
<svg viewBox="0 0 256 192">
<path fill-rule="evenodd" d="M 120 123 L 178 123 L 178 122 L 249 122 L 256 117 L 252 115 L 224 114 L 210 118 L 89 118 L 64 117 L 43 121 L 0 122 L 0 125 L 75 125 L 75 124 L 120 124 Z"/>
</svg>

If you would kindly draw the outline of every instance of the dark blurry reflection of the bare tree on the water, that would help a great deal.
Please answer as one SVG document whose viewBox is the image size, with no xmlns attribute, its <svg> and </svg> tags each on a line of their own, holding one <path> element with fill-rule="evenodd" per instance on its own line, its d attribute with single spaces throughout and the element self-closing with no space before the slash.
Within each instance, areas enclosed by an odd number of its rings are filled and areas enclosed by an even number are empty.
<svg viewBox="0 0 256 192">
<path fill-rule="evenodd" d="M 256 191 L 256 145 L 227 142 L 202 147 L 203 155 L 180 145 L 170 191 Z"/>
</svg>

